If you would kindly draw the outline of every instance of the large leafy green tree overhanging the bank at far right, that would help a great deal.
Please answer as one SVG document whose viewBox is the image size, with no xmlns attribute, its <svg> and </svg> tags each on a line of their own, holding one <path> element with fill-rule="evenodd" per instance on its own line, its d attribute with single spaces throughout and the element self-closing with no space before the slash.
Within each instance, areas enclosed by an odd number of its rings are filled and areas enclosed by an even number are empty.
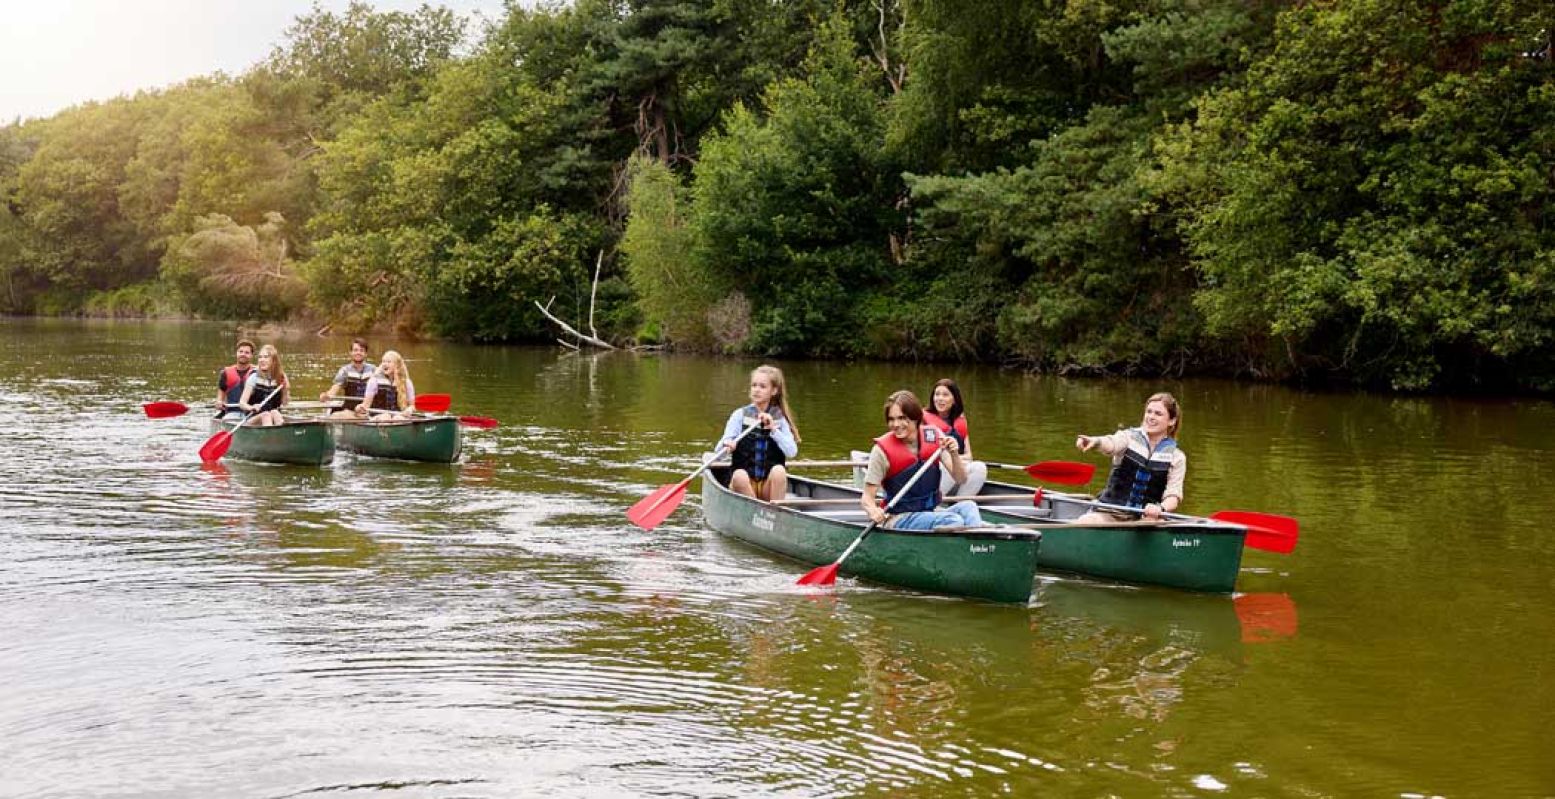
<svg viewBox="0 0 1555 799">
<path fill-rule="evenodd" d="M 1199 120 L 1163 143 L 1208 330 L 1264 348 L 1269 370 L 1400 389 L 1441 384 L 1448 362 L 1546 361 L 1547 37 L 1538 3 L 1356 0 L 1283 16 L 1246 85 L 1202 98 Z"/>
</svg>

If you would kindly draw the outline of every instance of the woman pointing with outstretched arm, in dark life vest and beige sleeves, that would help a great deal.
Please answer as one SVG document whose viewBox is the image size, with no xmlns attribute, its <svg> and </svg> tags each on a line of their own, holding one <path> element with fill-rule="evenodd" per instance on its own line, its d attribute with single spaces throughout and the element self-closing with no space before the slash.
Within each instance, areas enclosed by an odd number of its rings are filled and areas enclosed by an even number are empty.
<svg viewBox="0 0 1555 799">
<path fill-rule="evenodd" d="M 1144 420 L 1138 427 L 1112 435 L 1081 435 L 1075 446 L 1081 452 L 1101 449 L 1112 455 L 1112 474 L 1096 499 L 1109 505 L 1140 508 L 1146 519 L 1158 519 L 1182 504 L 1182 482 L 1188 476 L 1188 455 L 1177 449 L 1182 410 L 1177 400 L 1160 392 L 1144 401 Z M 1132 515 L 1092 510 L 1075 524 L 1127 521 Z"/>
</svg>

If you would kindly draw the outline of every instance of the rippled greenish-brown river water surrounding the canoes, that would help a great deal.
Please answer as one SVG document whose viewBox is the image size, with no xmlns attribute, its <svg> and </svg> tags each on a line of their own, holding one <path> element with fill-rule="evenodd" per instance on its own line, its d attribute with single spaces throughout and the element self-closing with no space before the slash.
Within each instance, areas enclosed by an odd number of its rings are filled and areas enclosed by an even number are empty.
<svg viewBox="0 0 1555 799">
<path fill-rule="evenodd" d="M 253 337 L 302 396 L 347 350 Z M 0 794 L 1555 794 L 1550 403 L 781 364 L 815 459 L 950 373 L 1008 463 L 1163 387 L 1185 510 L 1303 524 L 1236 598 L 998 606 L 802 592 L 695 491 L 627 522 L 754 361 L 376 340 L 502 426 L 456 465 L 202 468 L 204 413 L 140 403 L 208 403 L 235 340 L 0 320 Z"/>
</svg>

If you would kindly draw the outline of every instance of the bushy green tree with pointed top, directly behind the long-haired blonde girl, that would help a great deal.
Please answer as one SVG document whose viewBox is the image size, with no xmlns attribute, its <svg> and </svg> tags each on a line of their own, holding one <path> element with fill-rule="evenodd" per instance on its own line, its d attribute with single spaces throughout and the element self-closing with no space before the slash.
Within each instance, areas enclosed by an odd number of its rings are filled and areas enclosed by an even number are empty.
<svg viewBox="0 0 1555 799">
<path fill-rule="evenodd" d="M 774 84 L 765 118 L 736 109 L 695 168 L 695 258 L 751 306 L 743 347 L 852 354 L 857 295 L 886 277 L 899 185 L 880 96 L 833 20 L 805 79 Z"/>
</svg>

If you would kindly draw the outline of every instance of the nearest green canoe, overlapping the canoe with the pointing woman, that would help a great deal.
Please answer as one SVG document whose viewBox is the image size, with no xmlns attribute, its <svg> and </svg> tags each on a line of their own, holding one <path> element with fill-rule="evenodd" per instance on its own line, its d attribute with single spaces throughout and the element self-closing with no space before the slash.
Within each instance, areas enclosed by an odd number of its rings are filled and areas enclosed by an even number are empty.
<svg viewBox="0 0 1555 799">
<path fill-rule="evenodd" d="M 701 480 L 703 513 L 720 533 L 810 563 L 827 564 L 865 529 L 854 504 L 774 505 L 728 488 L 729 469 L 714 468 Z M 841 487 L 788 477 L 791 502 L 849 496 Z M 871 583 L 994 602 L 1031 598 L 1042 533 L 1031 530 L 886 530 L 875 529 L 843 563 L 843 575 Z"/>
</svg>

